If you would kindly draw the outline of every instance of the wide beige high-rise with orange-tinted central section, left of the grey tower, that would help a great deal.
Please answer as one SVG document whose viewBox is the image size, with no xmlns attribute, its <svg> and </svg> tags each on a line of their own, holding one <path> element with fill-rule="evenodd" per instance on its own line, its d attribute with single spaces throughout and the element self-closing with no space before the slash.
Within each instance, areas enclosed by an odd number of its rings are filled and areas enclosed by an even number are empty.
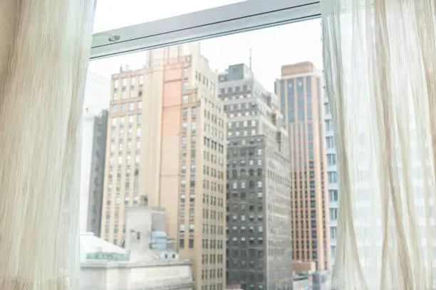
<svg viewBox="0 0 436 290">
<path fill-rule="evenodd" d="M 113 75 L 102 236 L 120 244 L 125 209 L 147 195 L 193 262 L 195 289 L 225 289 L 226 115 L 199 43 L 150 50 Z"/>
</svg>

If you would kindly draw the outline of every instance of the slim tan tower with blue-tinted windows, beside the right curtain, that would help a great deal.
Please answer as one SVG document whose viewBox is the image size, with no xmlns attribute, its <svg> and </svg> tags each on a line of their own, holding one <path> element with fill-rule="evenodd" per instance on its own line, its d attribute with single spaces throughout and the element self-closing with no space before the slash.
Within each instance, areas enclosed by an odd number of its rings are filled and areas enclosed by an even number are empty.
<svg viewBox="0 0 436 290">
<path fill-rule="evenodd" d="M 276 80 L 281 112 L 289 132 L 294 262 L 314 261 L 330 268 L 324 95 L 321 70 L 313 63 L 281 67 Z"/>
</svg>

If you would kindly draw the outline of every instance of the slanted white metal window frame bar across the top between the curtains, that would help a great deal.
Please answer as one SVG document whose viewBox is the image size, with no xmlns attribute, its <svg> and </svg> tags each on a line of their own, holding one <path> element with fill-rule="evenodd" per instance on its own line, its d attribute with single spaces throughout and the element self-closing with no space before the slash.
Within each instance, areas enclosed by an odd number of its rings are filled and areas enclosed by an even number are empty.
<svg viewBox="0 0 436 290">
<path fill-rule="evenodd" d="M 278 26 L 320 16 L 319 0 L 247 0 L 95 33 L 90 60 Z"/>
</svg>

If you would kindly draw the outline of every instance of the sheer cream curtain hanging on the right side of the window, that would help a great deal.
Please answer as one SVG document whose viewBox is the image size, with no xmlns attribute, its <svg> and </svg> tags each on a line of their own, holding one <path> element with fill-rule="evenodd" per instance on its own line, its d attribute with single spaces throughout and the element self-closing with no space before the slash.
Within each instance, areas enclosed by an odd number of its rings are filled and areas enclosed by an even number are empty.
<svg viewBox="0 0 436 290">
<path fill-rule="evenodd" d="M 321 6 L 341 192 L 333 289 L 433 289 L 435 1 Z"/>
</svg>

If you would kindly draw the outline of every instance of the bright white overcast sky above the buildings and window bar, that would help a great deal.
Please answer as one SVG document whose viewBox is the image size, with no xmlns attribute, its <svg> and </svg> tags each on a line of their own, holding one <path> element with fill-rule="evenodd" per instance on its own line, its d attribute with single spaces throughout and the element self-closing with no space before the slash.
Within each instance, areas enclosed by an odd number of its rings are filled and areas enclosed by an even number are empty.
<svg viewBox="0 0 436 290">
<path fill-rule="evenodd" d="M 214 8 L 243 0 L 99 0 L 95 12 L 94 32 L 154 21 L 160 18 Z M 259 0 L 246 0 L 259 1 Z M 260 0 L 266 1 L 266 0 Z M 286 1 L 286 0 L 283 0 Z M 214 70 L 222 72 L 228 65 L 251 64 L 254 76 L 266 89 L 274 92 L 274 80 L 280 77 L 281 65 L 311 61 L 322 67 L 321 21 L 301 21 L 283 26 L 237 33 L 201 41 L 202 55 Z M 120 65 L 141 68 L 145 52 L 93 60 L 89 70 L 103 77 L 118 73 Z"/>
</svg>

